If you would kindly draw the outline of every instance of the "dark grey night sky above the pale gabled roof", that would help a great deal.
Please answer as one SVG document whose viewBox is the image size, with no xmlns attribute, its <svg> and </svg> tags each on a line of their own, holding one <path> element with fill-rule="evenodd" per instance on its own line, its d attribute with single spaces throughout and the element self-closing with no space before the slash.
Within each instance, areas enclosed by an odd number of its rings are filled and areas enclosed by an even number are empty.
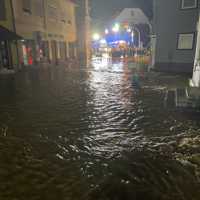
<svg viewBox="0 0 200 200">
<path fill-rule="evenodd" d="M 142 8 L 148 17 L 152 17 L 152 0 L 91 0 L 94 27 L 100 28 L 123 8 Z"/>
</svg>

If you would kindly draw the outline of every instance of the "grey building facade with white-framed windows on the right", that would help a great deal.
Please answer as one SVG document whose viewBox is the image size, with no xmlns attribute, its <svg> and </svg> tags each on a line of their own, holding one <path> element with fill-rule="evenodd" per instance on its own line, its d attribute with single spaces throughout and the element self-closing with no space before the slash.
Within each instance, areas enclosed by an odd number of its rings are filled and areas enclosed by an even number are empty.
<svg viewBox="0 0 200 200">
<path fill-rule="evenodd" d="M 198 0 L 154 0 L 154 69 L 192 72 L 199 6 Z"/>
</svg>

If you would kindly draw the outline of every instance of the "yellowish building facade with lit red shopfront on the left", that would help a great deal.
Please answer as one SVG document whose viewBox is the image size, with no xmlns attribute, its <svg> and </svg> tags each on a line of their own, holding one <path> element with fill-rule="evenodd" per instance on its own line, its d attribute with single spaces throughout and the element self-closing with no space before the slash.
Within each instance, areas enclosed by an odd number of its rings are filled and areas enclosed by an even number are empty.
<svg viewBox="0 0 200 200">
<path fill-rule="evenodd" d="M 22 39 L 13 66 L 59 63 L 76 57 L 75 4 L 71 0 L 0 0 L 0 25 Z"/>
</svg>

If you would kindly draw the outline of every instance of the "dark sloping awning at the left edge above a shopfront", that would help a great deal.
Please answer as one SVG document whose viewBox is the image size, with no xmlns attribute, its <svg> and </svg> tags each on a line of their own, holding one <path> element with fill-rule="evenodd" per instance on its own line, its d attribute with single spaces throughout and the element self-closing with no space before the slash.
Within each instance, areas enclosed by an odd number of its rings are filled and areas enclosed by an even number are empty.
<svg viewBox="0 0 200 200">
<path fill-rule="evenodd" d="M 8 30 L 7 28 L 0 26 L 0 41 L 4 40 L 20 40 L 22 39 L 21 36 L 17 35 L 16 33 Z"/>
</svg>

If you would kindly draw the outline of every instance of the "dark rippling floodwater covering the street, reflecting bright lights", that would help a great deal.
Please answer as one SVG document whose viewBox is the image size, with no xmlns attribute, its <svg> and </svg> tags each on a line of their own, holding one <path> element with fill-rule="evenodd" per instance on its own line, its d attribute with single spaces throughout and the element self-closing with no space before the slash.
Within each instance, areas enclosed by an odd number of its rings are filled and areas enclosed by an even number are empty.
<svg viewBox="0 0 200 200">
<path fill-rule="evenodd" d="M 121 62 L 0 79 L 1 200 L 199 200 L 198 113 L 166 109 L 180 77 Z"/>
</svg>

